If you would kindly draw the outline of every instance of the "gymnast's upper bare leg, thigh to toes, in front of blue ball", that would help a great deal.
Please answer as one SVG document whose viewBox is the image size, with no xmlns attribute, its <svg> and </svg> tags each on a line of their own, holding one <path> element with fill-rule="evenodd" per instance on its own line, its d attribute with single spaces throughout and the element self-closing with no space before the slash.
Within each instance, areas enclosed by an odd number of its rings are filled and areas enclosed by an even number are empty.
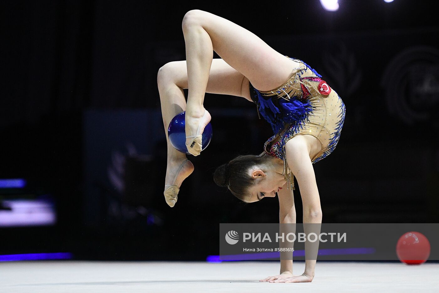
<svg viewBox="0 0 439 293">
<path fill-rule="evenodd" d="M 262 91 L 273 89 L 291 77 L 293 60 L 273 50 L 247 29 L 225 18 L 200 10 L 191 10 L 183 18 L 189 92 L 186 109 L 186 135 L 201 133 L 210 121 L 207 112 L 202 121 L 209 70 L 215 51 L 225 62 L 242 73 Z M 195 142 L 195 143 L 193 143 Z M 187 139 L 188 151 L 201 152 L 201 137 Z"/>
</svg>

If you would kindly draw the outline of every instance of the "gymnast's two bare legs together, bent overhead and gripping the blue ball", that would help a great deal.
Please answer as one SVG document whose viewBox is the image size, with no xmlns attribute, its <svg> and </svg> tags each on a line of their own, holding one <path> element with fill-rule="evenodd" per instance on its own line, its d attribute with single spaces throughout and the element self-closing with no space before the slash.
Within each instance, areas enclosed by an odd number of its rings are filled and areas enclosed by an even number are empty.
<svg viewBox="0 0 439 293">
<path fill-rule="evenodd" d="M 186 135 L 194 135 L 200 122 L 202 133 L 211 119 L 208 114 L 201 121 L 205 92 L 241 96 L 251 101 L 248 81 L 255 88 L 268 91 L 288 80 L 291 69 L 297 67 L 293 60 L 270 48 L 255 34 L 209 12 L 187 12 L 182 28 L 187 60 L 165 64 L 157 77 L 166 136 L 170 120 L 183 110 L 186 110 Z M 213 50 L 222 59 L 212 59 Z M 188 88 L 187 103 L 184 88 Z M 165 198 L 172 207 L 177 201 L 177 187 L 191 174 L 194 166 L 185 161 L 185 154 L 172 147 L 169 138 L 167 140 L 165 184 L 175 184 L 176 188 L 165 188 Z M 193 154 L 198 155 L 199 151 Z"/>
</svg>

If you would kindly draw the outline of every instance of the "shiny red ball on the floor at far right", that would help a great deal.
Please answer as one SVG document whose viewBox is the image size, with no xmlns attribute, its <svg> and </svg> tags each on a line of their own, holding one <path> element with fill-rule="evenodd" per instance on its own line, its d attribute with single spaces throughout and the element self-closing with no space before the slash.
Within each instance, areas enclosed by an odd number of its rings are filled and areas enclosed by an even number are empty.
<svg viewBox="0 0 439 293">
<path fill-rule="evenodd" d="M 399 238 L 396 254 L 406 264 L 422 264 L 430 256 L 430 242 L 422 233 L 407 232 Z"/>
</svg>

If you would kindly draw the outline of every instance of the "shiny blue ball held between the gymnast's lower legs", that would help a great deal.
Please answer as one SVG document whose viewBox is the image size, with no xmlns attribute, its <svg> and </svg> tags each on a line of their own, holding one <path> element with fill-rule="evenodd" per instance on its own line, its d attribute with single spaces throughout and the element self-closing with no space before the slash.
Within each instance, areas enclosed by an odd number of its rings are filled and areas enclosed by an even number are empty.
<svg viewBox="0 0 439 293">
<path fill-rule="evenodd" d="M 186 111 L 183 111 L 177 114 L 171 120 L 168 127 L 168 137 L 172 146 L 175 147 L 176 150 L 185 154 L 190 154 L 187 151 L 187 147 L 186 147 L 186 130 L 184 129 L 185 114 Z M 195 133 L 193 135 L 195 135 Z M 212 139 L 212 125 L 209 122 L 204 128 L 202 134 L 202 145 L 203 145 L 202 150 L 204 150 L 209 145 L 211 139 Z"/>
</svg>

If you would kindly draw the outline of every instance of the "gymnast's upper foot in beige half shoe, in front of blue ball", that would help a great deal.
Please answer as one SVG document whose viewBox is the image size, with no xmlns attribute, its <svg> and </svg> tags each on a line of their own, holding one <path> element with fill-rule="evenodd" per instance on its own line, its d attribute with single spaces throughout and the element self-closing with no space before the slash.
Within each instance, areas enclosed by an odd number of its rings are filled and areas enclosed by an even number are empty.
<svg viewBox="0 0 439 293">
<path fill-rule="evenodd" d="M 189 153 L 198 156 L 202 151 L 202 133 L 210 122 L 210 114 L 204 107 L 187 110 L 185 114 L 186 147 Z"/>
</svg>

